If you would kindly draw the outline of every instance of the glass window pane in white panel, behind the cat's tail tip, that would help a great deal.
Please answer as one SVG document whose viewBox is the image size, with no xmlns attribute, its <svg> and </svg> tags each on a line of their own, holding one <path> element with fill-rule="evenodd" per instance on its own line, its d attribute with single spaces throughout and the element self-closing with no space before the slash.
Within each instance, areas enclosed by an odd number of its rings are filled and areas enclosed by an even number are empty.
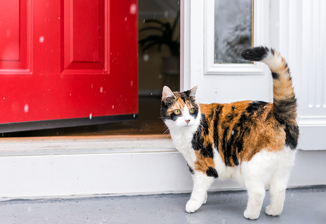
<svg viewBox="0 0 326 224">
<path fill-rule="evenodd" d="M 240 52 L 252 46 L 253 0 L 215 0 L 214 63 L 251 63 Z"/>
</svg>

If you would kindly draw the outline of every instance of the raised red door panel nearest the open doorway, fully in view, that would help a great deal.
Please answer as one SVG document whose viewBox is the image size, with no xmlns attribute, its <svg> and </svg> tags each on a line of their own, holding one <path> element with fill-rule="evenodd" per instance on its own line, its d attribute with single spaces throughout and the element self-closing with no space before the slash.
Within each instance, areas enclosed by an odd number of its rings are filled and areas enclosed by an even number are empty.
<svg viewBox="0 0 326 224">
<path fill-rule="evenodd" d="M 64 0 L 62 13 L 62 73 L 106 74 L 108 0 Z"/>
</svg>

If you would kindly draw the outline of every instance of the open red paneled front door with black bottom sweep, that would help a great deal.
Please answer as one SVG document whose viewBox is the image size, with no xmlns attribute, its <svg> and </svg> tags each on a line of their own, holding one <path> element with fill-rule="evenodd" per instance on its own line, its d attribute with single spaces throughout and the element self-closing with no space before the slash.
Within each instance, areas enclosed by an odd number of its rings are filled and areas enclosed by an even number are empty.
<svg viewBox="0 0 326 224">
<path fill-rule="evenodd" d="M 137 118 L 137 0 L 2 0 L 0 132 Z"/>
</svg>

